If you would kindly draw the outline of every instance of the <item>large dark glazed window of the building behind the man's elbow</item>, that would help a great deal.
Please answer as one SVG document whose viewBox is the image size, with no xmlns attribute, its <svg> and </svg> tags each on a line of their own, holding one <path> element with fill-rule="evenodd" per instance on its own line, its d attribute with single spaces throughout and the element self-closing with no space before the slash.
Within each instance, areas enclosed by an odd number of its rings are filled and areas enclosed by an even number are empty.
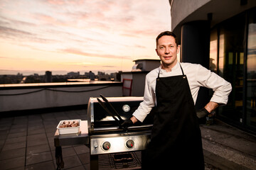
<svg viewBox="0 0 256 170">
<path fill-rule="evenodd" d="M 233 86 L 228 104 L 218 108 L 218 118 L 247 130 L 256 130 L 255 11 L 219 23 L 210 35 L 210 69 Z"/>
</svg>

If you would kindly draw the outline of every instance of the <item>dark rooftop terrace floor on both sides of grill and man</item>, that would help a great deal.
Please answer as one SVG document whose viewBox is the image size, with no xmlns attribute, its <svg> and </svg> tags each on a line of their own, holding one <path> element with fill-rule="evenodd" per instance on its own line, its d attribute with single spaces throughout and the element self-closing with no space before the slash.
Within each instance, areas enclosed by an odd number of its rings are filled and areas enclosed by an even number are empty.
<svg viewBox="0 0 256 170">
<path fill-rule="evenodd" d="M 56 169 L 54 134 L 60 120 L 87 120 L 87 111 L 34 113 L 0 119 L 1 169 Z M 253 169 L 256 137 L 220 121 L 201 125 L 206 170 Z M 89 148 L 63 147 L 65 169 L 90 169 Z"/>
</svg>

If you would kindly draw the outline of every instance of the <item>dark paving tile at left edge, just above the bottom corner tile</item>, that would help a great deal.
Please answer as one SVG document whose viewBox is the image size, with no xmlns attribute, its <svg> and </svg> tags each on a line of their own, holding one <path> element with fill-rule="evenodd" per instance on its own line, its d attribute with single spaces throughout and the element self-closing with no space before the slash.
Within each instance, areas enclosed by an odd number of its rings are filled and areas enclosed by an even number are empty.
<svg viewBox="0 0 256 170">
<path fill-rule="evenodd" d="M 0 160 L 11 159 L 11 158 L 16 158 L 16 157 L 25 157 L 25 153 L 26 153 L 25 147 L 2 151 L 0 153 Z"/>
</svg>

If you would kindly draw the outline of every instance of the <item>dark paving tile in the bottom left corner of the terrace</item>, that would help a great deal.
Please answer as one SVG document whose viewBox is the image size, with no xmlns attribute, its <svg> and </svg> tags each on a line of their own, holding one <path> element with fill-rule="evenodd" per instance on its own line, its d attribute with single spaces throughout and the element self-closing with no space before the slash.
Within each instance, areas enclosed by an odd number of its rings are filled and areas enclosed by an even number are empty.
<svg viewBox="0 0 256 170">
<path fill-rule="evenodd" d="M 24 164 L 25 164 L 25 157 L 17 157 L 13 159 L 5 159 L 0 161 L 1 169 L 14 169 L 18 167 L 23 167 Z"/>
</svg>

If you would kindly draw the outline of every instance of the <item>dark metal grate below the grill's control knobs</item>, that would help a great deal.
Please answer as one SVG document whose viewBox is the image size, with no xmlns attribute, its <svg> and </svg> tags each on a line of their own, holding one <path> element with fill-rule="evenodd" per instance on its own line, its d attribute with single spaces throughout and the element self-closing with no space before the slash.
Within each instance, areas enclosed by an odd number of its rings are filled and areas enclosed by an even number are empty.
<svg viewBox="0 0 256 170">
<path fill-rule="evenodd" d="M 114 155 L 118 154 L 101 154 L 98 156 L 99 170 L 111 169 L 142 169 L 142 152 L 125 152 L 132 154 L 133 159 L 114 161 Z"/>
</svg>

